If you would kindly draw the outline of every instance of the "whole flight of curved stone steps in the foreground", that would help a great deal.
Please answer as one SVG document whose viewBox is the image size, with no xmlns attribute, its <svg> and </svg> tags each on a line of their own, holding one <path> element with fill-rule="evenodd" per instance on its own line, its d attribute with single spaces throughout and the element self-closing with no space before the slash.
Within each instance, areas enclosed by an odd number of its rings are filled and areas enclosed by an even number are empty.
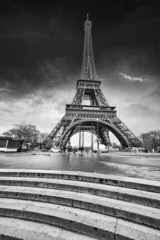
<svg viewBox="0 0 160 240">
<path fill-rule="evenodd" d="M 0 169 L 0 239 L 160 240 L 160 182 Z"/>
</svg>

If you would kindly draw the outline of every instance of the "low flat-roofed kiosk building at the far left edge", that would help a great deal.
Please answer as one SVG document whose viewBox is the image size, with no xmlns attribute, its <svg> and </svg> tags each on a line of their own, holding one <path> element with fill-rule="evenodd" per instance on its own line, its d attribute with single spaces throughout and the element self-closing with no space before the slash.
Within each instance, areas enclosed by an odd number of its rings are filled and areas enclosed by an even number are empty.
<svg viewBox="0 0 160 240">
<path fill-rule="evenodd" d="M 0 136 L 0 152 L 21 152 L 24 140 L 13 139 L 9 136 Z"/>
</svg>

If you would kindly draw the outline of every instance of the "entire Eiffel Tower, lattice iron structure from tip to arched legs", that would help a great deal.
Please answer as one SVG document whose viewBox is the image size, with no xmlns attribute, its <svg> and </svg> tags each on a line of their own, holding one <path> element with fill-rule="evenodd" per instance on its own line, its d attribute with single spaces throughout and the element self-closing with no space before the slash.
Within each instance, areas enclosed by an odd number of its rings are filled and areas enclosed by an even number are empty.
<svg viewBox="0 0 160 240">
<path fill-rule="evenodd" d="M 70 138 L 88 131 L 97 136 L 100 143 L 111 145 L 108 132 L 112 132 L 122 147 L 139 147 L 141 142 L 117 117 L 114 106 L 110 106 L 101 90 L 101 81 L 97 80 L 94 63 L 92 22 L 84 23 L 84 50 L 80 79 L 71 104 L 66 104 L 66 112 L 51 133 L 44 140 L 46 147 L 65 148 Z"/>
</svg>

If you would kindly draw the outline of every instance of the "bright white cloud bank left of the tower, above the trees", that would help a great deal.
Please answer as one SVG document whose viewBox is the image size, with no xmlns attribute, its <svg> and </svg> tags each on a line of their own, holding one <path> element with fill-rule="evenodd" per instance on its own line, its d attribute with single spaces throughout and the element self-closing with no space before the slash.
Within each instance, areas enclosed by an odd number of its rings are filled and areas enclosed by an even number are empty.
<svg viewBox="0 0 160 240">
<path fill-rule="evenodd" d="M 65 114 L 65 104 L 71 103 L 74 92 L 68 88 L 38 88 L 21 98 L 6 98 L 0 101 L 0 132 L 12 124 L 25 121 L 37 126 L 40 131 L 50 132 Z"/>
</svg>

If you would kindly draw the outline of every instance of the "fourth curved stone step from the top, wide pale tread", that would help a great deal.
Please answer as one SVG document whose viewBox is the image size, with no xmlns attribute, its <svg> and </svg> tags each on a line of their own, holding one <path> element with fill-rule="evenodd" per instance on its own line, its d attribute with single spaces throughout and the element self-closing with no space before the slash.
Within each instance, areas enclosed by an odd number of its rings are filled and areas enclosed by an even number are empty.
<svg viewBox="0 0 160 240">
<path fill-rule="evenodd" d="M 1 199 L 0 216 L 54 225 L 97 239 L 160 239 L 159 230 L 99 213 L 57 204 Z"/>
</svg>

